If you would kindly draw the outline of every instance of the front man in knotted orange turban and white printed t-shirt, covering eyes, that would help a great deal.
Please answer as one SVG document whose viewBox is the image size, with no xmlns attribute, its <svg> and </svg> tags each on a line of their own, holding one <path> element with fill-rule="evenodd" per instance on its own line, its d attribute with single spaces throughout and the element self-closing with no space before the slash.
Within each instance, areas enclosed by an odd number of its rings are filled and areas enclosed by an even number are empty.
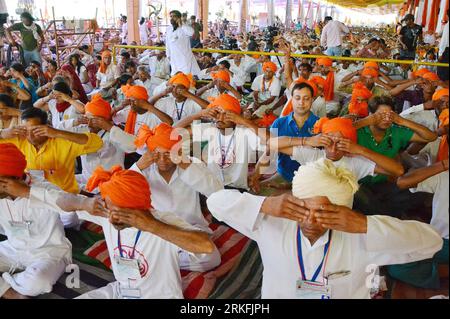
<svg viewBox="0 0 450 319">
<path fill-rule="evenodd" d="M 207 239 L 203 240 L 205 237 L 201 235 L 202 232 L 174 214 L 150 209 L 149 185 L 141 174 L 117 170 L 115 173 L 101 170 L 100 173 L 108 174 L 110 179 L 103 180 L 99 184 L 94 182 L 93 187 L 99 187 L 106 206 L 98 199 L 80 199 L 76 195 L 48 192 L 43 189 L 32 189 L 30 195 L 36 203 L 45 202 L 54 207 L 61 205 L 63 209 L 75 210 L 80 218 L 96 223 L 103 228 L 112 261 L 112 270 L 117 281 L 79 298 L 183 298 L 179 253 L 181 250 L 186 250 L 186 247 L 179 247 L 177 243 L 186 245 L 186 241 L 189 241 L 190 247 L 193 247 L 192 244 L 198 245 L 201 248 L 197 247 L 196 250 L 206 253 L 212 251 L 212 243 Z M 97 178 L 98 176 L 94 174 L 94 179 Z M 80 204 L 86 202 L 87 206 Z M 89 202 L 93 204 L 91 205 Z M 119 202 L 127 202 L 128 207 L 118 206 L 116 203 Z M 148 209 L 143 209 L 141 205 Z M 89 213 L 81 210 L 94 206 L 97 208 L 90 210 Z M 102 214 L 109 218 L 101 216 Z M 125 224 L 120 217 L 115 219 L 116 214 L 122 216 L 134 214 L 135 218 L 138 215 L 148 214 L 146 218 L 152 223 L 156 223 L 157 226 L 153 232 L 140 230 L 136 228 L 137 224 Z M 171 241 L 162 238 L 166 232 Z"/>
</svg>

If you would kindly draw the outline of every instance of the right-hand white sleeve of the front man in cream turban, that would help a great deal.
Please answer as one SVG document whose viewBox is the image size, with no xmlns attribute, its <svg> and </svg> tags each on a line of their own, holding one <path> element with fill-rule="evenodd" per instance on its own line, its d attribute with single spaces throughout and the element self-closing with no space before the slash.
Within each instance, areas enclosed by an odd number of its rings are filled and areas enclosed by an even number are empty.
<svg viewBox="0 0 450 319">
<path fill-rule="evenodd" d="M 442 248 L 442 238 L 428 224 L 389 216 L 367 217 L 365 246 L 379 266 L 429 259 Z"/>
</svg>

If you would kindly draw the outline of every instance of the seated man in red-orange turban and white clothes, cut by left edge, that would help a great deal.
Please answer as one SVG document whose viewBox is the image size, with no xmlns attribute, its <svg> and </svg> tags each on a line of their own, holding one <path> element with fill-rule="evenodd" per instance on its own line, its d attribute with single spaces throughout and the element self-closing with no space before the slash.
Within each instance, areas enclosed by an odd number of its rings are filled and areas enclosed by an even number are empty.
<svg viewBox="0 0 450 319">
<path fill-rule="evenodd" d="M 71 263 L 72 246 L 59 216 L 37 200 L 54 189 L 43 179 L 24 174 L 27 161 L 13 144 L 0 144 L 0 229 L 7 239 L 0 245 L 1 299 L 27 299 L 52 291 Z M 30 194 L 34 193 L 33 201 Z M 26 257 L 25 257 L 26 256 Z"/>
</svg>

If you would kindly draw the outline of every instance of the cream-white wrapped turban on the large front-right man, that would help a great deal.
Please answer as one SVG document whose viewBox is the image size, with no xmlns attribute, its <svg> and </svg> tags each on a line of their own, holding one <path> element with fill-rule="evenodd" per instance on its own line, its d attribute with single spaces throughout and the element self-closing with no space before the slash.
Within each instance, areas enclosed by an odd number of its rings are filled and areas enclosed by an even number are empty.
<svg viewBox="0 0 450 319">
<path fill-rule="evenodd" d="M 352 172 L 324 158 L 300 166 L 292 181 L 292 194 L 299 199 L 325 196 L 333 204 L 352 208 L 358 187 Z"/>
</svg>

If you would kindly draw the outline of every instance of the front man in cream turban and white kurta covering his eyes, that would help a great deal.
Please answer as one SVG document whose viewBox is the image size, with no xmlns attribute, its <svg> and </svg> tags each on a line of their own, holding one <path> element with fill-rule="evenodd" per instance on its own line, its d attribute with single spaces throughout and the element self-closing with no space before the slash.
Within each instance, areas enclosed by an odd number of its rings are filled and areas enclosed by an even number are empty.
<svg viewBox="0 0 450 319">
<path fill-rule="evenodd" d="M 295 197 L 220 191 L 207 201 L 214 217 L 258 243 L 264 265 L 262 298 L 370 298 L 379 266 L 427 259 L 442 247 L 442 239 L 429 225 L 351 211 L 357 181 L 349 171 L 326 161 L 300 167 L 293 182 Z M 338 226 L 342 220 L 353 228 Z M 321 228 L 320 223 L 336 225 Z M 321 234 L 311 243 L 310 234 L 317 229 Z M 324 290 L 311 292 L 304 276 Z"/>
</svg>

